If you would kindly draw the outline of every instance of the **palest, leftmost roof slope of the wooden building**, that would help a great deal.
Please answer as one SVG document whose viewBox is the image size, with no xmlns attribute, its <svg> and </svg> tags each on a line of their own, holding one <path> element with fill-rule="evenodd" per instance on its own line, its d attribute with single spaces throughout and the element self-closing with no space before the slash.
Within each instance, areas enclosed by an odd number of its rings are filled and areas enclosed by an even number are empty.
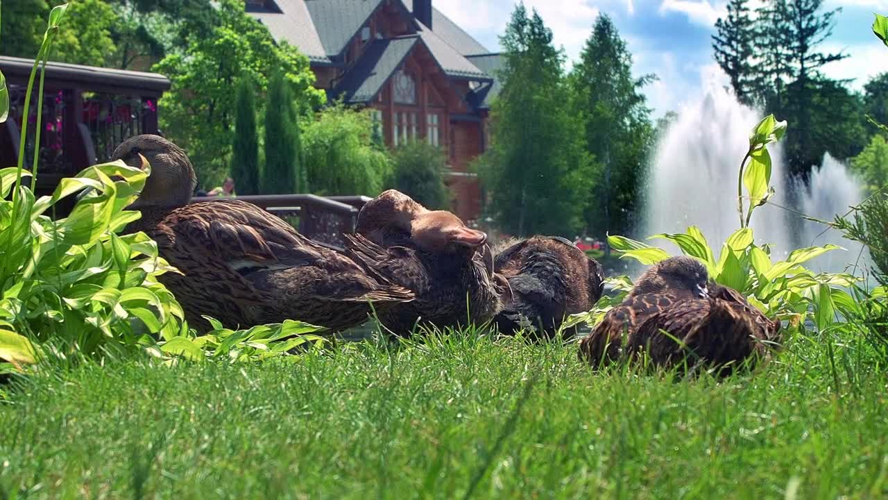
<svg viewBox="0 0 888 500">
<path fill-rule="evenodd" d="M 274 0 L 279 10 L 248 9 L 248 13 L 268 27 L 275 40 L 286 40 L 313 62 L 329 63 L 321 36 L 314 28 L 305 0 Z M 308 2 L 314 4 L 316 2 Z M 346 9 L 347 10 L 347 9 Z"/>
</svg>

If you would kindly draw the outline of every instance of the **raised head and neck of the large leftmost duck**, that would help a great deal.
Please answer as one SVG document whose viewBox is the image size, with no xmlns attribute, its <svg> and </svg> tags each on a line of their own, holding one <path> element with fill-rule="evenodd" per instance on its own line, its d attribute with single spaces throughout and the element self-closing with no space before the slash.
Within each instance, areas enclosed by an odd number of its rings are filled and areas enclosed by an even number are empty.
<svg viewBox="0 0 888 500">
<path fill-rule="evenodd" d="M 191 201 L 197 177 L 183 149 L 159 135 L 142 134 L 117 146 L 111 161 L 123 160 L 126 165 L 141 168 L 142 157 L 151 165 L 151 175 L 134 207 L 183 206 Z"/>
</svg>

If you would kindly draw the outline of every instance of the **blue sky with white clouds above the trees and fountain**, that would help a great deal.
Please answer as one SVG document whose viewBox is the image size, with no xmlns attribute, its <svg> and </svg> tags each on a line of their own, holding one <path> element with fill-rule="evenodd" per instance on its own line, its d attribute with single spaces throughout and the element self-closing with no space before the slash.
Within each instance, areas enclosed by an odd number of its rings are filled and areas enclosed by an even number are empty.
<svg viewBox="0 0 888 500">
<path fill-rule="evenodd" d="M 750 2 L 750 4 L 753 4 Z M 510 19 L 515 0 L 436 0 L 432 4 L 456 21 L 491 51 Z M 727 79 L 712 58 L 710 36 L 725 13 L 725 0 L 524 0 L 551 28 L 555 44 L 568 60 L 576 60 L 599 12 L 607 13 L 620 30 L 634 58 L 636 76 L 654 73 L 659 80 L 646 87 L 654 117 L 679 110 L 702 98 L 711 85 Z M 860 90 L 869 77 L 888 71 L 888 47 L 870 29 L 873 12 L 888 15 L 888 0 L 825 0 L 823 9 L 841 7 L 833 36 L 823 52 L 850 57 L 824 68 L 828 77 L 853 78 Z"/>
</svg>

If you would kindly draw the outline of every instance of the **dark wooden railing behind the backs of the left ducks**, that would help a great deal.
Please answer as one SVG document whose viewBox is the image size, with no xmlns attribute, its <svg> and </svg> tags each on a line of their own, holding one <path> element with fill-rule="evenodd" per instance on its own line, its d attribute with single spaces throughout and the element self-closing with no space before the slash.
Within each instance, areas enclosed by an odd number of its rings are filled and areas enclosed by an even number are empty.
<svg viewBox="0 0 888 500">
<path fill-rule="evenodd" d="M 219 198 L 195 197 L 192 203 Z M 319 197 L 316 195 L 239 196 L 270 214 L 281 217 L 308 238 L 330 246 L 345 246 L 344 234 L 354 231 L 358 212 L 371 198 L 362 196 Z"/>
</svg>

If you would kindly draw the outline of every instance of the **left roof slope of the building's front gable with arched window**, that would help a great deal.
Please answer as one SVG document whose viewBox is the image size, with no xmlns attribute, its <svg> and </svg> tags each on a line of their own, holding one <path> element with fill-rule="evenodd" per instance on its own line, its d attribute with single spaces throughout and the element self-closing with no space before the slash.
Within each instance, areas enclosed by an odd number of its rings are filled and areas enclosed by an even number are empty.
<svg viewBox="0 0 888 500">
<path fill-rule="evenodd" d="M 416 35 L 374 40 L 333 93 L 349 104 L 373 101 L 418 43 Z"/>
</svg>

